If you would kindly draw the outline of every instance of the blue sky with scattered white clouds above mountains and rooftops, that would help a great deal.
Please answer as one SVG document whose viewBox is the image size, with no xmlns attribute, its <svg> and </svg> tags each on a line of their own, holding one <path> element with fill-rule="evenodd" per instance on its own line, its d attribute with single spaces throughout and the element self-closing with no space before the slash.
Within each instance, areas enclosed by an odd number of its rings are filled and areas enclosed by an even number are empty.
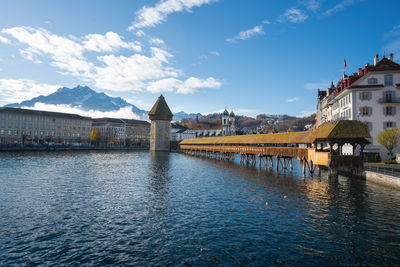
<svg viewBox="0 0 400 267">
<path fill-rule="evenodd" d="M 87 85 L 149 110 L 288 114 L 400 59 L 398 0 L 2 0 L 0 105 Z M 52 110 L 67 107 L 52 107 Z"/>
</svg>

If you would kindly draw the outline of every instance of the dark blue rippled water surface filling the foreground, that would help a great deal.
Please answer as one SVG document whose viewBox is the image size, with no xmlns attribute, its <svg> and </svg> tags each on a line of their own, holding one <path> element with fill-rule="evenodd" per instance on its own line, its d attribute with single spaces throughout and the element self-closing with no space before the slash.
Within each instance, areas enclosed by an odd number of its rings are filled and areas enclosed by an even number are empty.
<svg viewBox="0 0 400 267">
<path fill-rule="evenodd" d="M 400 191 L 149 152 L 0 154 L 0 266 L 399 265 Z"/>
</svg>

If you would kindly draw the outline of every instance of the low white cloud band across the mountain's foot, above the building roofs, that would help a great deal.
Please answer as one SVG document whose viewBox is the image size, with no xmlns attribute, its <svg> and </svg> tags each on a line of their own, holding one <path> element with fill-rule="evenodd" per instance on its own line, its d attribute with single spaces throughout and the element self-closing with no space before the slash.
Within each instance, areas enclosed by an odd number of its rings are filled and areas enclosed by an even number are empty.
<svg viewBox="0 0 400 267">
<path fill-rule="evenodd" d="M 71 105 L 64 105 L 64 104 L 51 105 L 38 102 L 35 103 L 34 107 L 22 107 L 22 108 L 44 110 L 50 112 L 72 113 L 92 118 L 109 117 L 109 118 L 122 118 L 122 119 L 136 119 L 136 120 L 143 119 L 138 114 L 134 113 L 131 107 L 124 107 L 120 108 L 119 110 L 112 110 L 112 111 L 98 111 L 98 110 L 83 110 L 80 107 L 72 107 Z"/>
</svg>

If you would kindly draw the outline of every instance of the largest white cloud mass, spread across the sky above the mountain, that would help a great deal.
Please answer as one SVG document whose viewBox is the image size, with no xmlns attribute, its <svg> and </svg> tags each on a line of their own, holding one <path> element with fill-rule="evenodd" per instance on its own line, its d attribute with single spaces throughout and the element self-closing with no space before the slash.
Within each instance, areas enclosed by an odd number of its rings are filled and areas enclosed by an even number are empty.
<svg viewBox="0 0 400 267">
<path fill-rule="evenodd" d="M 40 63 L 40 59 L 49 58 L 50 64 L 59 69 L 63 75 L 72 75 L 80 78 L 85 83 L 92 83 L 99 89 L 109 91 L 144 91 L 153 92 L 157 80 L 183 76 L 183 72 L 170 66 L 173 55 L 165 49 L 150 47 L 149 55 L 133 53 L 130 56 L 116 55 L 114 53 L 121 48 L 131 49 L 137 52 L 136 42 L 125 42 L 116 33 L 108 32 L 105 35 L 89 34 L 83 38 L 74 36 L 64 37 L 50 33 L 44 29 L 31 27 L 16 27 L 3 29 L 26 47 L 20 49 L 21 55 L 34 62 Z M 160 43 L 160 41 L 157 41 Z M 84 53 L 102 53 L 89 61 Z M 194 77 L 193 77 L 194 78 Z M 198 84 L 204 88 L 220 87 L 220 83 L 214 78 L 197 79 Z M 187 84 L 180 81 L 181 84 Z M 204 82 L 207 81 L 207 82 Z M 190 85 L 190 86 L 189 86 Z M 174 86 L 178 93 L 186 94 L 200 89 L 198 85 L 189 83 L 188 86 Z M 178 90 L 179 89 L 179 90 Z M 159 89 L 158 89 L 159 90 Z"/>
</svg>

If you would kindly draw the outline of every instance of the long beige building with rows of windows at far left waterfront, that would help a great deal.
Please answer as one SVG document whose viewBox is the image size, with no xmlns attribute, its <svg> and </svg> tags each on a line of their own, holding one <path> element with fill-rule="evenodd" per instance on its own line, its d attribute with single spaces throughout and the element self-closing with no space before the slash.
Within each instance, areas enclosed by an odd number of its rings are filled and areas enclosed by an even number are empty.
<svg viewBox="0 0 400 267">
<path fill-rule="evenodd" d="M 90 143 L 92 120 L 75 114 L 0 108 L 0 143 Z"/>
</svg>

